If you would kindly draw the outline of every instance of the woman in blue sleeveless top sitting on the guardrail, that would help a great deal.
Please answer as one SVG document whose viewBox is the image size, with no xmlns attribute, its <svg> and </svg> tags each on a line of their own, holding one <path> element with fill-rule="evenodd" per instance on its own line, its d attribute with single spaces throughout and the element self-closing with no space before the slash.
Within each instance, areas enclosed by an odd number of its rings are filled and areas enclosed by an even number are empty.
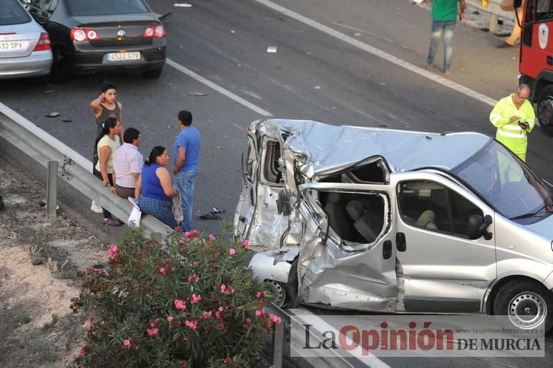
<svg viewBox="0 0 553 368">
<path fill-rule="evenodd" d="M 170 228 L 176 228 L 179 223 L 173 215 L 172 198 L 176 192 L 171 183 L 171 176 L 165 166 L 169 155 L 165 147 L 156 146 L 144 163 L 142 174 L 138 178 L 135 198 L 138 198 L 140 210 L 156 217 Z"/>
</svg>

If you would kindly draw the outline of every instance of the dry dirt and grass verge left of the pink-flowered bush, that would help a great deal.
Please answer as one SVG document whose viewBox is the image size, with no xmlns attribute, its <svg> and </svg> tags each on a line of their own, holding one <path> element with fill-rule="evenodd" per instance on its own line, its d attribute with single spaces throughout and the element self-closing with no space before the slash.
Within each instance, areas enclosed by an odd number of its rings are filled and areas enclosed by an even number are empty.
<svg viewBox="0 0 553 368">
<path fill-rule="evenodd" d="M 102 236 L 62 203 L 47 219 L 44 190 L 1 158 L 0 196 L 0 367 L 65 367 L 85 336 L 77 271 L 107 261 Z"/>
</svg>

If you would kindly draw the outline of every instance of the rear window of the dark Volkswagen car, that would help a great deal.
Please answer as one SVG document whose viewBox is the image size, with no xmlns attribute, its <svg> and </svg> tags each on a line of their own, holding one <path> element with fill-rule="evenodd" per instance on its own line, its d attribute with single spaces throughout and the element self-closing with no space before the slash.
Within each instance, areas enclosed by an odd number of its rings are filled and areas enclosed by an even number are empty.
<svg viewBox="0 0 553 368">
<path fill-rule="evenodd" d="M 116 15 L 150 12 L 142 0 L 67 0 L 72 15 Z"/>
</svg>

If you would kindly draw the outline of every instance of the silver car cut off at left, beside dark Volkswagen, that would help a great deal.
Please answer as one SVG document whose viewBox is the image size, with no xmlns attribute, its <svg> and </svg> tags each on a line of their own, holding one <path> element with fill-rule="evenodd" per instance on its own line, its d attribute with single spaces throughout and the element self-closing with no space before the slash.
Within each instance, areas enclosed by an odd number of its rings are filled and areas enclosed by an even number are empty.
<svg viewBox="0 0 553 368">
<path fill-rule="evenodd" d="M 0 79 L 41 77 L 53 56 L 48 33 L 17 0 L 0 0 Z"/>
</svg>

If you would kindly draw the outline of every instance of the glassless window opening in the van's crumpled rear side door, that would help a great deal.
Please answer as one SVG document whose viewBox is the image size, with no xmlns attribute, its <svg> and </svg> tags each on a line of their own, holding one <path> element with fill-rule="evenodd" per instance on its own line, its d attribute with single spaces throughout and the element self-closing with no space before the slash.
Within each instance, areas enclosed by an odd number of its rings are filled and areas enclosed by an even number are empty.
<svg viewBox="0 0 553 368">
<path fill-rule="evenodd" d="M 329 226 L 342 240 L 368 244 L 384 227 L 384 200 L 378 194 L 319 191 Z"/>
</svg>

